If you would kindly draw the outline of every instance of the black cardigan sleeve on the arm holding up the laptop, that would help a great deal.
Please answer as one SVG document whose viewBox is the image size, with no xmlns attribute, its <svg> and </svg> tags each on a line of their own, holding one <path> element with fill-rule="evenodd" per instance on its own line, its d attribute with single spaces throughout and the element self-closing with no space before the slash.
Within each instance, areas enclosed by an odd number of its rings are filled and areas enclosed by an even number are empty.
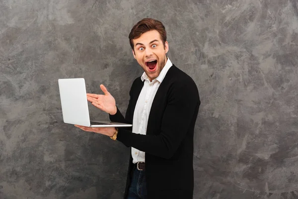
<svg viewBox="0 0 298 199">
<path fill-rule="evenodd" d="M 171 89 L 158 135 L 142 135 L 119 129 L 117 140 L 126 146 L 169 159 L 174 155 L 189 130 L 199 106 L 198 89 L 194 82 L 176 84 Z"/>
</svg>

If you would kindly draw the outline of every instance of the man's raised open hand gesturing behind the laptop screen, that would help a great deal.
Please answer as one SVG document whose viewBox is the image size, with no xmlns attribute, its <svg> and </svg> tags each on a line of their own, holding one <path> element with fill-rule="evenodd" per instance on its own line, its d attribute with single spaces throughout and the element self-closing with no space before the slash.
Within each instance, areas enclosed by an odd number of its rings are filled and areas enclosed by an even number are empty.
<svg viewBox="0 0 298 199">
<path fill-rule="evenodd" d="M 100 89 L 104 93 L 104 95 L 87 94 L 87 100 L 90 101 L 95 107 L 111 115 L 116 114 L 117 107 L 114 97 L 103 85 L 100 85 Z"/>
</svg>

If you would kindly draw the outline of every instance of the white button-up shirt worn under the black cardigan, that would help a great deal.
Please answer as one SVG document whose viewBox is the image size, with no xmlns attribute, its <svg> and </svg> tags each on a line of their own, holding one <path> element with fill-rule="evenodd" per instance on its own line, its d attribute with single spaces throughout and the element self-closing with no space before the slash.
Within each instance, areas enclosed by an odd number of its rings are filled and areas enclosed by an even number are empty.
<svg viewBox="0 0 298 199">
<path fill-rule="evenodd" d="M 150 82 L 148 76 L 144 72 L 141 80 L 144 82 L 144 86 L 138 98 L 134 118 L 133 118 L 133 133 L 139 133 L 146 135 L 147 132 L 147 124 L 148 124 L 148 117 L 151 109 L 151 105 L 155 94 L 158 90 L 159 85 L 163 81 L 166 73 L 171 68 L 172 62 L 169 58 L 167 58 L 166 64 L 161 70 L 158 77 L 152 82 Z M 133 156 L 133 163 L 137 162 L 145 162 L 145 152 L 140 151 L 134 147 L 132 147 L 132 156 Z"/>
</svg>

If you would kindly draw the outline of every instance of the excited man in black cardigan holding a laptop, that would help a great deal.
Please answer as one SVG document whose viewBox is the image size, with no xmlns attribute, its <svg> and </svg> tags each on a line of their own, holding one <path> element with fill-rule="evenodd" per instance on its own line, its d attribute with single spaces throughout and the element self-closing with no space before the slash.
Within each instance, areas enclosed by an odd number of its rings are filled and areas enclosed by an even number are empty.
<svg viewBox="0 0 298 199">
<path fill-rule="evenodd" d="M 87 94 L 87 99 L 109 113 L 111 121 L 133 127 L 78 127 L 131 147 L 125 199 L 192 199 L 193 137 L 200 106 L 197 86 L 167 58 L 169 46 L 160 21 L 142 19 L 129 39 L 144 73 L 132 84 L 125 117 L 103 85 L 104 95 Z"/>
</svg>

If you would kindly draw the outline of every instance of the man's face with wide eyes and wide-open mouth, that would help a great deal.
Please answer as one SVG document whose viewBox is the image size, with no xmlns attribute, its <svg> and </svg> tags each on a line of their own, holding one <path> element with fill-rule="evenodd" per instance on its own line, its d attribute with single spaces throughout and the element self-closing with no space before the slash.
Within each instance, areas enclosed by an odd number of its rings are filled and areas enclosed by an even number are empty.
<svg viewBox="0 0 298 199">
<path fill-rule="evenodd" d="M 163 45 L 159 32 L 151 30 L 134 39 L 133 54 L 150 81 L 157 78 L 166 63 L 168 42 Z"/>
</svg>

